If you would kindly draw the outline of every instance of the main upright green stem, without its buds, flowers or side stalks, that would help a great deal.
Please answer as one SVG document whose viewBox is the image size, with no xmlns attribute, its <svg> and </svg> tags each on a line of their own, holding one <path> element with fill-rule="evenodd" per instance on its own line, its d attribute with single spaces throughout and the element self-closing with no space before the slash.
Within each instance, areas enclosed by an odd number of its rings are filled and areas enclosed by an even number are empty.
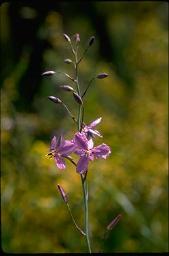
<svg viewBox="0 0 169 256">
<path fill-rule="evenodd" d="M 76 48 L 75 52 L 75 73 L 76 73 L 76 85 L 77 85 L 77 93 L 79 96 L 81 96 L 80 88 L 79 88 L 79 78 L 78 78 L 78 71 L 77 71 L 77 66 L 79 64 L 77 60 L 77 50 L 78 50 L 78 45 Z M 81 132 L 81 124 L 83 120 L 81 120 L 81 110 L 82 110 L 82 105 L 79 105 L 79 113 L 78 113 L 78 120 L 77 120 L 77 127 L 79 132 Z M 82 118 L 83 118 L 83 113 L 82 113 Z M 86 234 L 86 243 L 88 246 L 88 252 L 92 253 L 91 248 L 90 248 L 90 240 L 89 240 L 89 233 L 88 233 L 88 189 L 86 187 L 87 179 L 86 176 L 83 177 L 81 174 L 81 183 L 83 187 L 83 198 L 84 198 L 84 209 L 85 209 L 85 234 Z"/>
</svg>

